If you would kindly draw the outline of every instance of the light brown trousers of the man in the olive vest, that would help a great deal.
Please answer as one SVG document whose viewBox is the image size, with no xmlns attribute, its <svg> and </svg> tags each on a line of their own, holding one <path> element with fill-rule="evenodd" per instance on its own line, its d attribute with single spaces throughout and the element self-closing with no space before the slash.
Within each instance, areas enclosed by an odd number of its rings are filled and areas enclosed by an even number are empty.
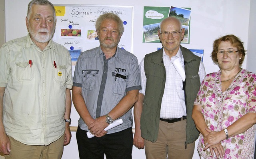
<svg viewBox="0 0 256 159">
<path fill-rule="evenodd" d="M 192 159 L 195 142 L 185 148 L 187 120 L 168 123 L 159 123 L 159 132 L 156 142 L 145 139 L 145 153 L 147 159 Z"/>
</svg>

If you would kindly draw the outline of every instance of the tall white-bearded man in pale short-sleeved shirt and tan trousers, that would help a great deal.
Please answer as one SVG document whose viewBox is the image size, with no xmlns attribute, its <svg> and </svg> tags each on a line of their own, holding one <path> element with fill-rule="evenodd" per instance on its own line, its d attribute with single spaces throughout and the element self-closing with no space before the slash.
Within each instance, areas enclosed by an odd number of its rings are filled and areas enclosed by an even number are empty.
<svg viewBox="0 0 256 159">
<path fill-rule="evenodd" d="M 56 13 L 32 0 L 28 35 L 0 48 L 0 152 L 6 159 L 60 159 L 71 139 L 72 63 L 52 41 Z"/>
</svg>

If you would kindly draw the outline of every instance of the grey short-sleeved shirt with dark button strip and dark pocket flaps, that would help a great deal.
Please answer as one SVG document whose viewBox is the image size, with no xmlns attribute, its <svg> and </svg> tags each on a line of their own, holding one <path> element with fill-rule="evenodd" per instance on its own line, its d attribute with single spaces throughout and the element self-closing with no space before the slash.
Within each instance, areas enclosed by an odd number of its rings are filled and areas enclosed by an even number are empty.
<svg viewBox="0 0 256 159">
<path fill-rule="evenodd" d="M 87 50 L 76 62 L 73 82 L 74 86 L 82 87 L 86 107 L 96 119 L 109 113 L 127 91 L 141 89 L 138 60 L 136 56 L 120 48 L 107 60 L 100 47 Z M 108 130 L 108 134 L 132 127 L 131 110 L 120 118 L 123 120 L 122 125 Z M 88 131 L 82 118 L 78 125 Z"/>
</svg>

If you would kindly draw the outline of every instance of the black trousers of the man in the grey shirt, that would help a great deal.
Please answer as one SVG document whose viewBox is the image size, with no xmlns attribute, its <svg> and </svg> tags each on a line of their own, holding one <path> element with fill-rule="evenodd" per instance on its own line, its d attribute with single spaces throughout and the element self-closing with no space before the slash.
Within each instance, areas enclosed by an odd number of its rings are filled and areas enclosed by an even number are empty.
<svg viewBox="0 0 256 159">
<path fill-rule="evenodd" d="M 132 127 L 102 137 L 88 138 L 87 131 L 78 129 L 76 141 L 80 159 L 132 159 Z"/>
</svg>

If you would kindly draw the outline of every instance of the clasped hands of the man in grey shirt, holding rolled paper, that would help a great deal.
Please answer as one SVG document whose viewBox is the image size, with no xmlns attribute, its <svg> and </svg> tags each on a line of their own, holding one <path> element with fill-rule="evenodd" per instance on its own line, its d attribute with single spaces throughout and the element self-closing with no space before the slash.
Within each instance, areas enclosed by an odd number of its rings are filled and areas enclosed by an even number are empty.
<svg viewBox="0 0 256 159">
<path fill-rule="evenodd" d="M 106 117 L 104 115 L 96 118 L 94 122 L 90 123 L 90 125 L 88 125 L 88 129 L 96 137 L 102 137 L 107 133 L 107 131 L 104 130 L 107 126 L 108 123 L 106 123 Z"/>
</svg>

